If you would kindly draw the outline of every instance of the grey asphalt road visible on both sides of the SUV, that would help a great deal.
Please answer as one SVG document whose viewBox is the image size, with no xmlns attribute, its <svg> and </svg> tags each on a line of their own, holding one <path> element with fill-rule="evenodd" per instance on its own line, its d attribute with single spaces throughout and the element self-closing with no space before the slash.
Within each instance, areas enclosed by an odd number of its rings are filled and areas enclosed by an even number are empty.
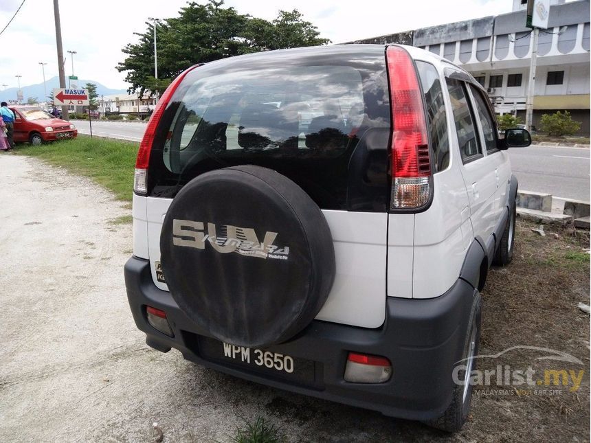
<svg viewBox="0 0 591 443">
<path fill-rule="evenodd" d="M 76 121 L 83 134 L 89 124 Z M 93 134 L 131 141 L 141 141 L 146 129 L 143 122 L 93 122 Z M 590 201 L 590 151 L 586 148 L 531 146 L 509 150 L 513 173 L 520 190 L 547 192 L 561 198 Z"/>
</svg>

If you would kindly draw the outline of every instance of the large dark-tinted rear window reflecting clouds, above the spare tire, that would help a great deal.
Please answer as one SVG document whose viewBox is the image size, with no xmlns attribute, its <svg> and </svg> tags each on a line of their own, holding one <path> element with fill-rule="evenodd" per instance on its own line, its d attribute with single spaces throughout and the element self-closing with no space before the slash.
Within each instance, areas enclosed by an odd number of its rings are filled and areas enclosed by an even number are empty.
<svg viewBox="0 0 591 443">
<path fill-rule="evenodd" d="M 285 174 L 322 209 L 386 210 L 389 130 L 383 47 L 220 60 L 188 73 L 172 97 L 148 192 L 174 196 L 203 172 L 254 164 Z"/>
</svg>

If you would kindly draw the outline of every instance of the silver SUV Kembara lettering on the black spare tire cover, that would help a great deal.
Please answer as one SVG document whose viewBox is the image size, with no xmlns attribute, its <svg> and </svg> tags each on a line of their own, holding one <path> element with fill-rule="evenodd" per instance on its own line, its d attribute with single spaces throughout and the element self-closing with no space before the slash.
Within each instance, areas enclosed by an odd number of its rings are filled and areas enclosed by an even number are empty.
<svg viewBox="0 0 591 443">
<path fill-rule="evenodd" d="M 256 232 L 251 227 L 239 227 L 233 225 L 220 225 L 192 220 L 172 220 L 172 244 L 181 247 L 205 249 L 208 242 L 219 253 L 236 252 L 241 255 L 258 258 L 274 258 L 287 260 L 289 247 L 277 247 L 274 245 L 277 238 L 276 232 L 267 231 L 263 242 L 258 241 Z M 218 235 L 219 229 L 219 235 Z"/>
</svg>

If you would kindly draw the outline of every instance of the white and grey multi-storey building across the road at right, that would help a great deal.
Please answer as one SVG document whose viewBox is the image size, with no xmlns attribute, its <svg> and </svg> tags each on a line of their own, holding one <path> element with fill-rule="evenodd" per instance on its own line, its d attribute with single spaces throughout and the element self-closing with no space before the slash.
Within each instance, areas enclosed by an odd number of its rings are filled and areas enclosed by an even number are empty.
<svg viewBox="0 0 591 443">
<path fill-rule="evenodd" d="M 497 113 L 525 120 L 532 52 L 526 0 L 513 12 L 447 23 L 350 43 L 401 43 L 427 49 L 469 71 L 487 88 Z M 590 3 L 550 0 L 547 30 L 539 30 L 533 125 L 542 114 L 567 110 L 590 132 Z"/>
</svg>

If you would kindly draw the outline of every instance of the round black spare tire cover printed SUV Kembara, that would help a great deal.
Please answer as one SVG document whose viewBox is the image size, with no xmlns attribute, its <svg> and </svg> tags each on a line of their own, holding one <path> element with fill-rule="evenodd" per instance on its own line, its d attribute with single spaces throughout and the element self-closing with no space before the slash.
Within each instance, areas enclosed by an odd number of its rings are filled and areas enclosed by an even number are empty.
<svg viewBox="0 0 591 443">
<path fill-rule="evenodd" d="M 221 341 L 265 347 L 317 315 L 335 279 L 324 214 L 293 181 L 259 166 L 200 175 L 172 201 L 161 265 L 184 313 Z"/>
</svg>

